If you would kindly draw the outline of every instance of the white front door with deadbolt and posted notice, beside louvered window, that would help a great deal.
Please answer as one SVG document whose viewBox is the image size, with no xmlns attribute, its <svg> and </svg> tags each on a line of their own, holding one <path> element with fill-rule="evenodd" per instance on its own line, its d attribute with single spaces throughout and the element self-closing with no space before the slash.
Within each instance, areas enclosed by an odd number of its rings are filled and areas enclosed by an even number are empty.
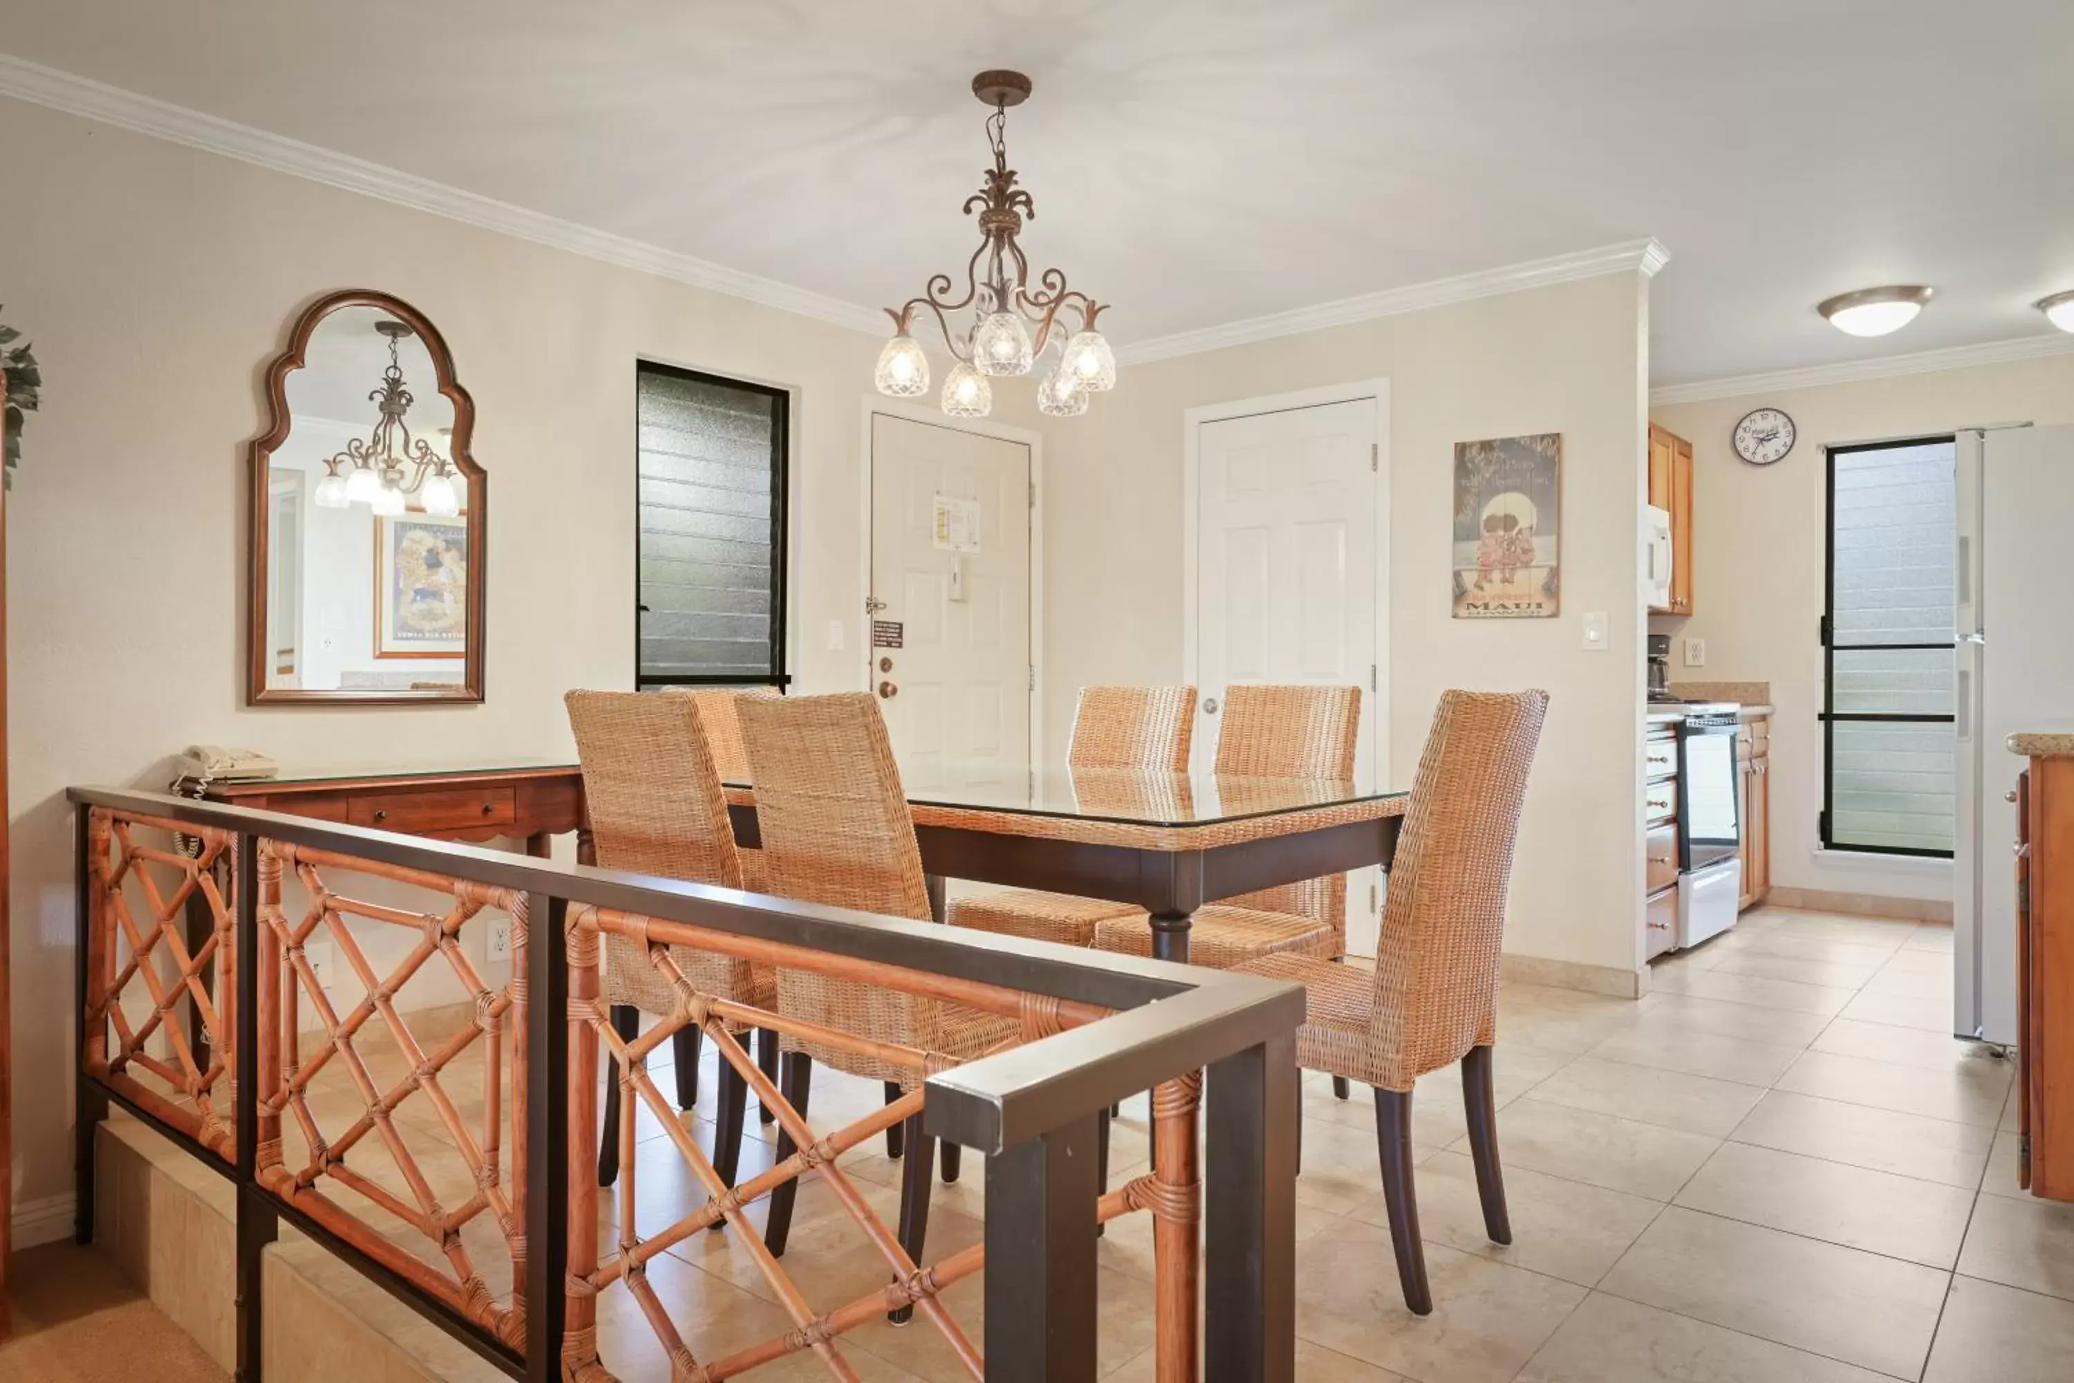
<svg viewBox="0 0 2074 1383">
<path fill-rule="evenodd" d="M 1031 448 L 871 415 L 871 688 L 910 790 L 1027 784 Z"/>
</svg>

